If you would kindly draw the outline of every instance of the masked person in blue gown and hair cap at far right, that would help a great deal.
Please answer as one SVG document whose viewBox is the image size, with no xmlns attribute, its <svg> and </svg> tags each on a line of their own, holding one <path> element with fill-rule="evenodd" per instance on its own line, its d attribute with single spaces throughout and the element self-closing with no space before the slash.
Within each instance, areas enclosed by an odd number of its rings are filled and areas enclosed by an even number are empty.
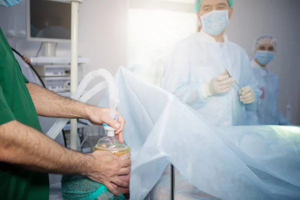
<svg viewBox="0 0 300 200">
<path fill-rule="evenodd" d="M 271 35 L 261 35 L 255 41 L 255 56 L 251 65 L 258 87 L 262 91 L 256 113 L 261 125 L 290 125 L 288 119 L 277 109 L 278 75 L 267 69 L 268 63 L 275 57 L 275 49 L 276 39 Z M 247 116 L 251 119 L 256 114 L 247 112 Z"/>
</svg>

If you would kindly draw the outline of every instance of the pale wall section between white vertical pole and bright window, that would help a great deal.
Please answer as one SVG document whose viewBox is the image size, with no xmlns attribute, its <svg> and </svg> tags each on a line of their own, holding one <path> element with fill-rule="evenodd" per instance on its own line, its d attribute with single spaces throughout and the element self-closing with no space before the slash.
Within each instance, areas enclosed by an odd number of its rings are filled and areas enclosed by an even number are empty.
<svg viewBox="0 0 300 200">
<path fill-rule="evenodd" d="M 114 74 L 126 65 L 127 7 L 128 0 L 84 0 L 80 4 L 78 53 L 89 58 L 87 71 L 105 68 Z M 101 93 L 95 95 L 89 103 L 97 105 L 100 97 Z"/>
</svg>

